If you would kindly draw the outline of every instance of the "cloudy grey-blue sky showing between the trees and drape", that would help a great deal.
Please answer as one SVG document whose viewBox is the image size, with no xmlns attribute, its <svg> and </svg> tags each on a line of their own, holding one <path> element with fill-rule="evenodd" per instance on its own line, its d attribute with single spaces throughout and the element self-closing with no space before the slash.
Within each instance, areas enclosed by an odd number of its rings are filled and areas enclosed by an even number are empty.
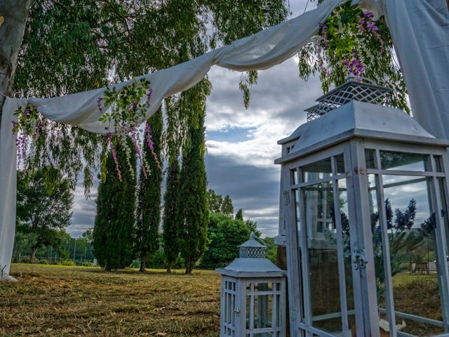
<svg viewBox="0 0 449 337">
<path fill-rule="evenodd" d="M 304 11 L 306 0 L 290 0 L 293 16 Z M 311 9 L 309 4 L 309 8 Z M 206 117 L 206 170 L 208 188 L 229 194 L 234 209 L 242 208 L 243 217 L 257 221 L 264 236 L 277 234 L 280 167 L 273 161 L 280 157 L 277 140 L 289 136 L 304 123 L 304 109 L 321 95 L 319 80 L 302 81 L 297 60 L 259 72 L 257 85 L 251 89 L 250 107 L 243 106 L 239 90 L 241 73 L 213 67 L 209 79 L 213 91 L 208 98 Z M 95 219 L 95 188 L 91 199 L 83 196 L 81 185 L 75 192 L 73 236 L 80 236 Z"/>
</svg>

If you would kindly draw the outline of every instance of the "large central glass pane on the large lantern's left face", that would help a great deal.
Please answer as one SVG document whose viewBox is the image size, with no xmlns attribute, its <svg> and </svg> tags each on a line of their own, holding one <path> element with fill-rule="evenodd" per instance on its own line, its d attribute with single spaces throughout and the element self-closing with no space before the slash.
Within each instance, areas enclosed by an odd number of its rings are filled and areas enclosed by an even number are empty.
<svg viewBox="0 0 449 337">
<path fill-rule="evenodd" d="M 307 186 L 303 192 L 313 325 L 342 331 L 333 182 Z"/>
</svg>

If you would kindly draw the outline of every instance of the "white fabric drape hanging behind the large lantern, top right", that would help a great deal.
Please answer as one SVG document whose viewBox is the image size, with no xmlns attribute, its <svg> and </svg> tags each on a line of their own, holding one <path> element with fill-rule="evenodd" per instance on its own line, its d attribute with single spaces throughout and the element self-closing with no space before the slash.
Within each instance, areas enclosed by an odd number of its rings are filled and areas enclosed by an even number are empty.
<svg viewBox="0 0 449 337">
<path fill-rule="evenodd" d="M 406 81 L 413 117 L 449 139 L 449 10 L 444 0 L 360 0 L 384 15 Z"/>
</svg>

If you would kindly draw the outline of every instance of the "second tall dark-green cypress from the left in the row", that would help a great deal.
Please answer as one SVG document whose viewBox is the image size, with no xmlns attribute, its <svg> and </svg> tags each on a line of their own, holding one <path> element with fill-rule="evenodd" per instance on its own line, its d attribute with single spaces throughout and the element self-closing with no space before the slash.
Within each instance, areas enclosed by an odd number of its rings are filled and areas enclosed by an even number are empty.
<svg viewBox="0 0 449 337">
<path fill-rule="evenodd" d="M 145 176 L 143 166 L 140 166 L 136 251 L 140 258 L 140 272 L 145 272 L 147 257 L 159 249 L 158 229 L 161 218 L 161 144 L 162 144 L 162 112 L 159 109 L 148 121 L 151 126 L 153 150 L 147 144 L 146 137 L 143 140 L 145 149 L 142 155 L 147 160 L 151 173 Z M 154 154 L 156 154 L 156 158 Z"/>
</svg>

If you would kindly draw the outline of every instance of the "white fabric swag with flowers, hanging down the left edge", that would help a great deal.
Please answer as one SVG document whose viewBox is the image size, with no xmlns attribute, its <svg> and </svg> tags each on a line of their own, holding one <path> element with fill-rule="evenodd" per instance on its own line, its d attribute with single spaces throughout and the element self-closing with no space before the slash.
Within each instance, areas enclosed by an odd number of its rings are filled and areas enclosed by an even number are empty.
<svg viewBox="0 0 449 337">
<path fill-rule="evenodd" d="M 230 70 L 263 70 L 291 58 L 316 34 L 319 23 L 342 0 L 326 0 L 313 11 L 288 20 L 250 37 L 234 41 L 229 46 L 201 55 L 194 60 L 144 75 L 153 89 L 146 119 L 159 108 L 163 98 L 185 91 L 201 81 L 213 65 Z M 142 78 L 142 77 L 140 77 Z M 116 88 L 130 84 L 116 84 Z M 7 98 L 3 108 L 0 134 L 0 270 L 9 273 L 15 233 L 16 148 L 11 132 L 13 113 L 27 103 L 34 105 L 43 116 L 65 124 L 80 126 L 95 133 L 105 133 L 98 122 L 97 99 L 106 88 L 55 98 Z"/>
</svg>

